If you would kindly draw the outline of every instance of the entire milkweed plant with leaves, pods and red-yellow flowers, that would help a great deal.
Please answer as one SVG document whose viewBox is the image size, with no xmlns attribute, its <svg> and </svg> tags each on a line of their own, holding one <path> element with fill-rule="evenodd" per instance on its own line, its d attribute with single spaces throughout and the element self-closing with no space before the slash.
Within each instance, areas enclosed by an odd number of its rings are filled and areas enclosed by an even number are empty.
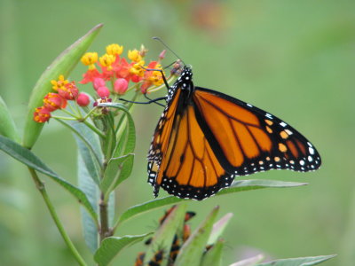
<svg viewBox="0 0 355 266">
<path fill-rule="evenodd" d="M 28 102 L 22 137 L 0 98 L 0 149 L 28 167 L 36 189 L 43 196 L 45 207 L 79 265 L 88 265 L 92 258 L 84 258 L 75 248 L 60 222 L 51 195 L 45 190 L 43 178 L 51 178 L 63 192 L 74 196 L 78 206 L 81 206 L 83 239 L 98 265 L 225 265 L 222 264 L 225 245 L 222 234 L 232 214 L 226 214 L 216 222 L 219 207 L 213 208 L 194 230 L 188 224 L 191 216 L 186 211 L 189 200 L 173 196 L 132 206 L 111 222 L 111 217 L 117 216 L 114 213 L 113 193 L 130 177 L 133 168 L 136 145 L 135 125 L 131 116 L 133 102 L 149 101 L 154 91 L 164 89 L 166 85 L 162 74 L 172 84 L 181 65 L 177 61 L 169 69 L 163 69 L 165 51 L 149 62 L 146 59 L 148 50 L 143 45 L 139 50 L 125 52 L 122 45 L 109 44 L 102 56 L 98 52 L 86 52 L 101 27 L 98 25 L 92 28 L 63 51 L 43 72 Z M 72 81 L 69 74 L 78 62 L 87 66 L 87 70 L 81 81 Z M 91 93 L 82 92 L 85 86 L 91 88 Z M 80 166 L 77 170 L 77 184 L 69 183 L 65 176 L 59 176 L 46 166 L 45 159 L 41 160 L 31 152 L 43 126 L 54 121 L 71 130 L 75 137 L 77 164 Z M 144 179 L 136 180 L 139 184 L 146 184 Z M 218 192 L 217 196 L 299 185 L 303 184 L 239 180 Z M 125 236 L 116 233 L 122 223 L 162 207 L 170 208 L 159 221 L 156 231 Z M 120 261 L 119 253 L 123 248 L 140 242 L 145 245 L 140 244 L 142 252 L 137 257 L 132 257 L 131 262 Z M 231 265 L 313 265 L 332 257 L 325 255 L 262 262 L 264 258 L 260 254 Z"/>
</svg>

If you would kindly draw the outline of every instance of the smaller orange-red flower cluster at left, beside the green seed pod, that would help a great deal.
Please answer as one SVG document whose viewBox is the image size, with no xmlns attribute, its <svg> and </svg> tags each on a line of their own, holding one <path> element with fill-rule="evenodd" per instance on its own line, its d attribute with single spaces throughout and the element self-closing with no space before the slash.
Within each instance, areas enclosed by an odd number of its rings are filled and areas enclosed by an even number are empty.
<svg viewBox="0 0 355 266">
<path fill-rule="evenodd" d="M 43 106 L 37 107 L 34 121 L 43 123 L 51 118 L 51 113 L 67 107 L 68 100 L 75 100 L 79 106 L 88 106 L 90 98 L 86 93 L 79 93 L 75 82 L 68 82 L 64 76 L 59 75 L 58 81 L 51 81 L 52 89 L 43 98 Z"/>
</svg>

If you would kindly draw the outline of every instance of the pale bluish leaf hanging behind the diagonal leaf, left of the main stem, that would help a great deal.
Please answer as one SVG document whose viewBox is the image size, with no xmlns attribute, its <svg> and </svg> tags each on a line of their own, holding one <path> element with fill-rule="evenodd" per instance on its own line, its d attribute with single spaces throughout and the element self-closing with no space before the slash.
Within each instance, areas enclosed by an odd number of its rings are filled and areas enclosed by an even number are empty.
<svg viewBox="0 0 355 266">
<path fill-rule="evenodd" d="M 80 141 L 80 140 L 79 140 Z M 84 146 L 84 145 L 83 145 Z M 98 202 L 99 202 L 99 187 L 94 183 L 90 177 L 88 168 L 86 168 L 83 161 L 82 153 L 85 153 L 79 149 L 78 153 L 78 182 L 79 188 L 86 194 L 91 206 L 94 208 L 95 212 L 98 213 Z M 96 223 L 92 220 L 91 215 L 84 208 L 80 208 L 82 213 L 82 223 L 83 223 L 83 236 L 86 245 L 89 246 L 91 253 L 94 254 L 98 249 L 98 228 Z"/>
</svg>

